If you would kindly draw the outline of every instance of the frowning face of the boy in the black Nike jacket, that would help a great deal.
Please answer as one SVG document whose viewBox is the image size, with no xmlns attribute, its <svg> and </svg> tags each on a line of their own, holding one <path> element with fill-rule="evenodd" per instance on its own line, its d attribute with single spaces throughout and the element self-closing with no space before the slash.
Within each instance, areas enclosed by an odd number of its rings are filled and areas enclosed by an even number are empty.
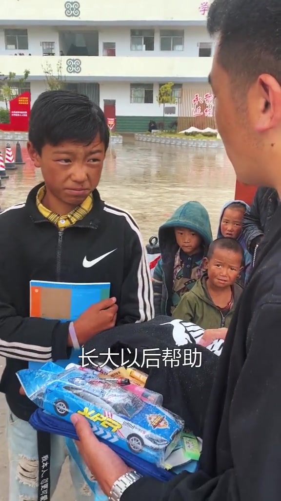
<svg viewBox="0 0 281 501">
<path fill-rule="evenodd" d="M 35 167 L 40 167 L 47 194 L 66 206 L 76 207 L 98 185 L 105 156 L 99 134 L 89 145 L 65 141 L 45 144 L 39 155 L 31 143 L 27 149 Z"/>
</svg>

